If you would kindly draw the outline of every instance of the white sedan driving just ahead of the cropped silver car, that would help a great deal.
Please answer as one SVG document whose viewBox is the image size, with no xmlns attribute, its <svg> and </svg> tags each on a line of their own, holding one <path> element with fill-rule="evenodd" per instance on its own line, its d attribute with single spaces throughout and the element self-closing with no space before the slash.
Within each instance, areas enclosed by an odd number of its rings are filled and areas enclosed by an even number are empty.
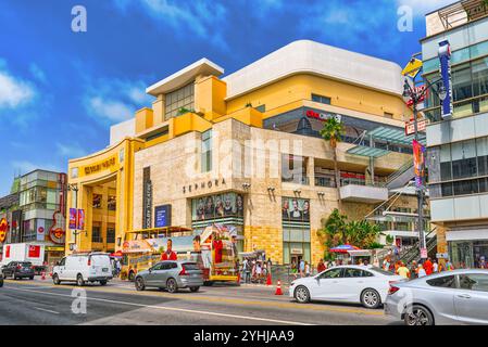
<svg viewBox="0 0 488 347">
<path fill-rule="evenodd" d="M 403 280 L 371 266 L 339 266 L 314 277 L 295 280 L 289 295 L 298 303 L 340 301 L 377 308 L 385 303 L 390 283 Z"/>
</svg>

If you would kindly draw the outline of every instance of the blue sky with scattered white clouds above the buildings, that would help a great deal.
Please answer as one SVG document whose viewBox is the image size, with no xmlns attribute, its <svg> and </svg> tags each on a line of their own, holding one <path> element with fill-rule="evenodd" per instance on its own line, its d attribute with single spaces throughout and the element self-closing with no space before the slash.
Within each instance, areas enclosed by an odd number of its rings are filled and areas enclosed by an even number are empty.
<svg viewBox="0 0 488 347">
<path fill-rule="evenodd" d="M 0 195 L 15 174 L 66 170 L 149 106 L 145 88 L 208 57 L 232 73 L 298 39 L 391 60 L 421 51 L 424 14 L 452 0 L 2 0 Z M 71 29 L 72 8 L 87 31 Z M 397 11 L 413 10 L 400 33 Z"/>
</svg>

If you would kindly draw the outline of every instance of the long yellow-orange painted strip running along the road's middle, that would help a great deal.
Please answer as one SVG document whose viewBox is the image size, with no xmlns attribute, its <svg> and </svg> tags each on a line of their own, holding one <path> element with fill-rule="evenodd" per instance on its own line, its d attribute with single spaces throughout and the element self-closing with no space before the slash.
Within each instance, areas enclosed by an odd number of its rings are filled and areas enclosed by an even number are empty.
<svg viewBox="0 0 488 347">
<path fill-rule="evenodd" d="M 15 283 L 15 282 L 13 282 Z M 27 284 L 27 283 L 25 283 Z M 29 283 L 28 285 L 35 285 L 35 286 L 45 286 L 43 284 L 38 283 Z M 49 287 L 52 288 L 79 288 L 76 285 L 49 285 Z M 299 309 L 299 310 L 312 310 L 312 311 L 329 311 L 329 312 L 339 312 L 339 313 L 354 313 L 354 314 L 364 314 L 364 316 L 375 316 L 375 317 L 383 317 L 385 318 L 385 313 L 383 310 L 368 310 L 368 309 L 360 309 L 360 308 L 349 308 L 349 307 L 331 307 L 331 306 L 324 306 L 322 304 L 297 304 L 297 303 L 289 303 L 289 301 L 283 301 L 278 303 L 277 299 L 275 299 L 275 296 L 273 294 L 274 299 L 273 301 L 265 301 L 265 300 L 247 300 L 247 299 L 238 299 L 238 298 L 224 298 L 224 297 L 211 297 L 203 296 L 203 295 L 190 295 L 190 294 L 184 294 L 176 296 L 175 294 L 170 293 L 162 293 L 162 292 L 136 292 L 135 290 L 130 290 L 129 287 L 120 290 L 114 288 L 113 286 L 84 286 L 83 288 L 91 292 L 101 292 L 101 293 L 114 293 L 114 294 L 130 294 L 130 295 L 141 295 L 141 296 L 153 296 L 153 297 L 165 297 L 165 298 L 172 298 L 172 299 L 182 299 L 182 300 L 196 300 L 196 301 L 204 301 L 204 303 L 216 303 L 216 304 L 238 304 L 243 306 L 249 305 L 255 305 L 255 306 L 266 306 L 271 308 L 289 308 L 289 309 Z"/>
</svg>

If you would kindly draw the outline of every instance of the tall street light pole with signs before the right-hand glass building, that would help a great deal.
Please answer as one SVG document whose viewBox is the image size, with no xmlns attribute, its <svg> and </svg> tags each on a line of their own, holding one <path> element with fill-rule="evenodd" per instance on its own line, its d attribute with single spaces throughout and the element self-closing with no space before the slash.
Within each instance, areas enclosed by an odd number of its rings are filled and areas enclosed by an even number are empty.
<svg viewBox="0 0 488 347">
<path fill-rule="evenodd" d="M 434 86 L 437 86 L 437 90 L 434 88 Z M 437 81 L 434 81 L 433 83 L 428 82 L 426 80 L 426 85 L 424 89 L 415 89 L 412 88 L 405 78 L 405 82 L 403 85 L 403 97 L 409 98 L 412 102 L 413 106 L 413 124 L 414 124 L 414 130 L 415 130 L 415 141 L 418 143 L 420 136 L 418 136 L 418 111 L 417 105 L 422 103 L 425 99 L 425 95 L 427 93 L 427 90 L 433 90 L 441 101 L 446 99 L 446 88 L 443 86 L 442 79 L 439 79 Z M 424 232 L 424 193 L 425 193 L 425 184 L 424 184 L 424 170 L 425 170 L 425 157 L 422 158 L 421 162 L 421 168 L 418 175 L 418 181 L 415 187 L 415 190 L 417 192 L 417 208 L 418 208 L 418 223 L 417 223 L 417 230 L 418 230 L 418 245 L 420 245 L 420 252 L 421 252 L 421 258 L 426 258 L 423 256 L 423 249 L 426 249 L 426 242 L 425 242 L 425 232 Z"/>
</svg>

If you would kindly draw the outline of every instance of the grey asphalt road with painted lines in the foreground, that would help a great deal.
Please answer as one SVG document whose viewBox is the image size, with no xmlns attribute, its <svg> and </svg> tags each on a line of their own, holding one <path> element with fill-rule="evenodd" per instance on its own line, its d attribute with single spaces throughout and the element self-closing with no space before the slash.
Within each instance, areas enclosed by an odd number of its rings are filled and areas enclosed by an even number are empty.
<svg viewBox="0 0 488 347">
<path fill-rule="evenodd" d="M 182 290 L 136 292 L 128 282 L 107 286 L 54 286 L 50 280 L 7 280 L 0 288 L 0 324 L 189 324 L 288 325 L 398 324 L 381 309 L 354 305 L 295 303 L 274 287 L 213 286 L 199 293 Z M 79 297 L 82 295 L 82 298 Z M 84 299 L 86 297 L 86 300 Z M 86 303 L 86 312 L 83 310 Z"/>
</svg>

